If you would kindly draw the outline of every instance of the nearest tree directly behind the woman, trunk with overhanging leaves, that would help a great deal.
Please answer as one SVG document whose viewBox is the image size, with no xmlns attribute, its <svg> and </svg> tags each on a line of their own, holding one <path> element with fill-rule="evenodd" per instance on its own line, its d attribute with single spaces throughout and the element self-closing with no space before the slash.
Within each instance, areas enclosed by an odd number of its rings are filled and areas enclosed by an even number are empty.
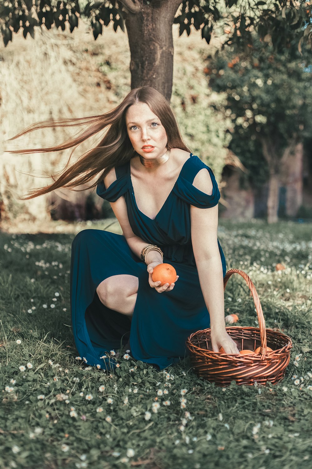
<svg viewBox="0 0 312 469">
<path fill-rule="evenodd" d="M 5 0 L 0 1 L 0 33 L 7 45 L 13 33 L 34 38 L 35 27 L 52 26 L 71 32 L 79 18 L 88 19 L 94 39 L 113 22 L 114 30 L 127 30 L 131 52 L 131 88 L 150 85 L 171 97 L 173 74 L 173 23 L 180 24 L 180 35 L 190 34 L 193 25 L 209 44 L 216 27 L 225 34 L 224 44 L 247 48 L 252 31 L 260 37 L 271 34 L 274 48 L 296 40 L 311 44 L 312 26 L 303 31 L 311 16 L 305 0 Z M 311 26 L 311 27 L 310 27 Z M 108 44 L 109 47 L 109 44 Z"/>
</svg>

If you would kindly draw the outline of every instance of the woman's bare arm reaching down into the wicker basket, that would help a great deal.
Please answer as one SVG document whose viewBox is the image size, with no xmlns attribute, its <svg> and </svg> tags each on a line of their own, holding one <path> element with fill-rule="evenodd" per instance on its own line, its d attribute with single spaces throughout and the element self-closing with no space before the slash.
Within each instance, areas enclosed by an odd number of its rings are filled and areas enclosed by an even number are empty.
<svg viewBox="0 0 312 469">
<path fill-rule="evenodd" d="M 205 168 L 196 174 L 193 185 L 208 195 L 212 194 L 210 174 Z M 206 209 L 191 205 L 190 215 L 194 257 L 210 315 L 212 348 L 215 352 L 223 347 L 225 353 L 239 353 L 225 330 L 223 272 L 217 237 L 218 205 Z"/>
</svg>

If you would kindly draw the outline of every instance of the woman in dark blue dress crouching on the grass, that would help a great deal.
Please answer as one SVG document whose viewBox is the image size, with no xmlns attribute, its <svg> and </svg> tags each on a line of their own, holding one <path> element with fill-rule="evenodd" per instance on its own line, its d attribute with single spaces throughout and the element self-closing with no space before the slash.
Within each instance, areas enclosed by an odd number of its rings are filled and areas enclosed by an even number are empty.
<svg viewBox="0 0 312 469">
<path fill-rule="evenodd" d="M 73 188 L 100 173 L 91 187 L 110 202 L 122 228 L 122 235 L 86 229 L 73 240 L 71 311 L 79 355 L 98 368 L 114 368 L 114 349 L 128 340 L 131 356 L 162 370 L 187 355 L 190 333 L 208 327 L 214 351 L 239 353 L 225 330 L 218 185 L 184 144 L 167 100 L 143 86 L 109 113 L 39 123 L 18 136 L 85 123 L 92 125 L 78 138 L 36 151 L 73 147 L 109 126 L 100 144 L 66 169 L 68 161 L 53 184 L 25 197 Z M 171 285 L 152 280 L 163 262 L 178 274 Z"/>
</svg>

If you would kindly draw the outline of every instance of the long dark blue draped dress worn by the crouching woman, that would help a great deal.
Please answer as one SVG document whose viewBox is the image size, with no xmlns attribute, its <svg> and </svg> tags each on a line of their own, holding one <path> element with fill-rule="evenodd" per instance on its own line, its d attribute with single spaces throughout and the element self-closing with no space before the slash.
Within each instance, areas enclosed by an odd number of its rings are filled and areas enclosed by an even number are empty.
<svg viewBox="0 0 312 469">
<path fill-rule="evenodd" d="M 212 195 L 193 186 L 203 168 L 210 173 Z M 97 229 L 80 231 L 72 244 L 70 276 L 74 340 L 79 356 L 88 365 L 113 370 L 116 361 L 110 351 L 130 340 L 134 359 L 163 370 L 188 355 L 185 341 L 191 333 L 210 326 L 192 249 L 190 205 L 213 207 L 220 193 L 210 167 L 191 153 L 165 203 L 155 219 L 150 219 L 138 209 L 130 162 L 116 166 L 115 171 L 116 181 L 108 189 L 100 182 L 97 194 L 109 202 L 125 198 L 133 233 L 146 244 L 159 246 L 163 262 L 174 266 L 179 279 L 173 290 L 160 294 L 149 286 L 147 266 L 131 251 L 122 234 Z M 225 276 L 225 257 L 219 241 L 218 247 Z M 132 320 L 104 306 L 96 293 L 102 280 L 122 274 L 138 278 Z"/>
</svg>

